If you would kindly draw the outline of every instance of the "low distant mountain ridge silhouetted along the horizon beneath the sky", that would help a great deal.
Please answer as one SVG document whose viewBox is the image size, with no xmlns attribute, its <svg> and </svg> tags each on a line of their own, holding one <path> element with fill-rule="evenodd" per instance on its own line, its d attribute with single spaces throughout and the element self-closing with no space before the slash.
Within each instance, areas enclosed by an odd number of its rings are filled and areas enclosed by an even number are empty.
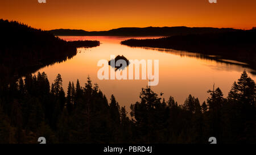
<svg viewBox="0 0 256 155">
<path fill-rule="evenodd" d="M 203 33 L 219 33 L 242 31 L 234 28 L 212 27 L 123 27 L 109 31 L 84 31 L 71 29 L 56 29 L 48 32 L 56 36 L 174 36 Z"/>
</svg>

